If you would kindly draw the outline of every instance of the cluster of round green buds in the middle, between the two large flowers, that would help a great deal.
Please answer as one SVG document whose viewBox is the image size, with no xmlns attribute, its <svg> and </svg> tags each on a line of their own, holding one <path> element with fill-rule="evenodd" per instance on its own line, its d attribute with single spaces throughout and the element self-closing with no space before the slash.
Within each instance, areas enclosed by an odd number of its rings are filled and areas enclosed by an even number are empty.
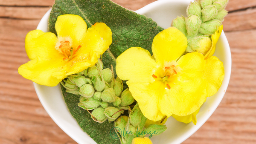
<svg viewBox="0 0 256 144">
<path fill-rule="evenodd" d="M 99 123 L 115 121 L 134 102 L 131 92 L 128 89 L 123 91 L 122 80 L 115 79 L 111 69 L 103 69 L 101 60 L 82 72 L 68 76 L 61 84 L 66 92 L 80 95 L 78 106 L 91 110 L 91 117 Z"/>
</svg>

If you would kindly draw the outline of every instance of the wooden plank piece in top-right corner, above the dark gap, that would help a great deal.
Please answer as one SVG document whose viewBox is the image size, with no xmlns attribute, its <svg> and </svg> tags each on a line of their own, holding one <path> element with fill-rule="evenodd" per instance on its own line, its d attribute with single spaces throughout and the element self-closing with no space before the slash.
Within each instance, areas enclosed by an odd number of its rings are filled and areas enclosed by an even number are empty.
<svg viewBox="0 0 256 144">
<path fill-rule="evenodd" d="M 256 6 L 256 0 L 229 0 L 227 11 L 235 11 Z"/>
</svg>

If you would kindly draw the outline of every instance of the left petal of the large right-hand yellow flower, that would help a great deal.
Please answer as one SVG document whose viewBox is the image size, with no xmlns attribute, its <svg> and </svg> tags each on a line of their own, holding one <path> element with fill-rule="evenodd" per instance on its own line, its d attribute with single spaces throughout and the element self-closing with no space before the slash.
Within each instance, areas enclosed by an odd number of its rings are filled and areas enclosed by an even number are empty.
<svg viewBox="0 0 256 144">
<path fill-rule="evenodd" d="M 116 74 L 122 80 L 131 83 L 153 83 L 156 62 L 150 53 L 140 47 L 132 47 L 116 59 Z"/>
</svg>

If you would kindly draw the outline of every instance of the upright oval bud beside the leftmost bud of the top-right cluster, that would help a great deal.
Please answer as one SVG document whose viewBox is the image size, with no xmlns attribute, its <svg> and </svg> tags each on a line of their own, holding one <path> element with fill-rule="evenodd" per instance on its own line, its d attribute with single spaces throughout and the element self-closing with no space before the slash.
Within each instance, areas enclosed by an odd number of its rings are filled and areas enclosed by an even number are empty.
<svg viewBox="0 0 256 144">
<path fill-rule="evenodd" d="M 186 20 L 186 29 L 188 31 L 188 35 L 195 35 L 198 33 L 198 30 L 201 26 L 201 20 L 197 15 L 191 15 Z"/>
</svg>

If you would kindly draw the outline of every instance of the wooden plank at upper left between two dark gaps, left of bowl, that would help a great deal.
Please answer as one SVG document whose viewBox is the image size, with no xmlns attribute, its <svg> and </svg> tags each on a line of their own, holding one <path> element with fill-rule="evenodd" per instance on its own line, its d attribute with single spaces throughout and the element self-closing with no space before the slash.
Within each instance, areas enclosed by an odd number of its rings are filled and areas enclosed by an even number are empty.
<svg viewBox="0 0 256 144">
<path fill-rule="evenodd" d="M 16 19 L 39 19 L 50 9 L 50 7 L 7 7 L 0 6 L 0 17 Z"/>
</svg>

